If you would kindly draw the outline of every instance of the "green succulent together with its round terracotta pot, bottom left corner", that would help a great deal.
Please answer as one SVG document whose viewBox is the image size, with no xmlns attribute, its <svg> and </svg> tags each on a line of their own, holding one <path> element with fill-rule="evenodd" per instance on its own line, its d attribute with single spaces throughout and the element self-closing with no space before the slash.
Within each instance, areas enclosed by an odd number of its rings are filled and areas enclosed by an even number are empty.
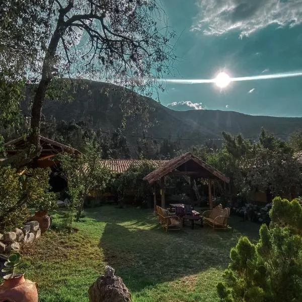
<svg viewBox="0 0 302 302">
<path fill-rule="evenodd" d="M 24 273 L 16 272 L 20 265 L 21 254 L 15 253 L 5 262 L 4 283 L 0 285 L 0 301 L 38 302 L 38 291 L 35 282 L 26 280 Z"/>
</svg>

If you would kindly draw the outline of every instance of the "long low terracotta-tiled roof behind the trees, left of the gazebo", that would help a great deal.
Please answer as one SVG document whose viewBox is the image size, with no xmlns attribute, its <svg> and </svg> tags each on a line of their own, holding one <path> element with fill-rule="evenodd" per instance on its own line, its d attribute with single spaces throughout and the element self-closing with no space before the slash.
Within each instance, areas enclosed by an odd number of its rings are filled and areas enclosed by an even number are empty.
<svg viewBox="0 0 302 302">
<path fill-rule="evenodd" d="M 155 168 L 159 168 L 163 166 L 166 162 L 164 160 L 101 160 L 101 163 L 104 164 L 105 167 L 109 168 L 112 172 L 116 172 L 118 174 L 125 172 L 132 165 L 140 165 L 142 163 L 150 163 L 155 166 Z"/>
</svg>

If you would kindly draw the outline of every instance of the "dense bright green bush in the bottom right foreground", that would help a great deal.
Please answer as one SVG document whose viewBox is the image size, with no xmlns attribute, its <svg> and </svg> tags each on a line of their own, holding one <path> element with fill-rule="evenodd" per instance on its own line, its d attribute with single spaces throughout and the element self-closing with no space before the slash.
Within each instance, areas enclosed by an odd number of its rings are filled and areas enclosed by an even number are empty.
<svg viewBox="0 0 302 302">
<path fill-rule="evenodd" d="M 295 302 L 302 300 L 302 208 L 298 200 L 277 197 L 252 244 L 241 237 L 232 248 L 224 282 L 217 284 L 224 302 Z"/>
</svg>

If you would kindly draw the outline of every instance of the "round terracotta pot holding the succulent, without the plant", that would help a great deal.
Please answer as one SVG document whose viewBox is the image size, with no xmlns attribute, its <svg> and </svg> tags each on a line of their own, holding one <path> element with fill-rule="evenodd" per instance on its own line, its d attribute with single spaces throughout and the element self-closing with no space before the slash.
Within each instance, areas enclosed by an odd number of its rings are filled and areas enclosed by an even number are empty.
<svg viewBox="0 0 302 302">
<path fill-rule="evenodd" d="M 5 279 L 0 285 L 0 302 L 38 302 L 36 282 L 26 280 L 24 275 Z"/>
</svg>

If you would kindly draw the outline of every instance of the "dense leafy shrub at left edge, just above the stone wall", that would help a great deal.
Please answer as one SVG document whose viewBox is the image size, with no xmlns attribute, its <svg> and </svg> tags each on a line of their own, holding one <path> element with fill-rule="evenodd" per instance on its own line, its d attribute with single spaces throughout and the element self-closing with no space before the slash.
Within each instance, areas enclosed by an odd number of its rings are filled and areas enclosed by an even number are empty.
<svg viewBox="0 0 302 302">
<path fill-rule="evenodd" d="M 16 228 L 29 210 L 50 210 L 55 195 L 50 192 L 48 169 L 24 169 L 22 174 L 9 166 L 0 167 L 0 229 Z"/>
</svg>

